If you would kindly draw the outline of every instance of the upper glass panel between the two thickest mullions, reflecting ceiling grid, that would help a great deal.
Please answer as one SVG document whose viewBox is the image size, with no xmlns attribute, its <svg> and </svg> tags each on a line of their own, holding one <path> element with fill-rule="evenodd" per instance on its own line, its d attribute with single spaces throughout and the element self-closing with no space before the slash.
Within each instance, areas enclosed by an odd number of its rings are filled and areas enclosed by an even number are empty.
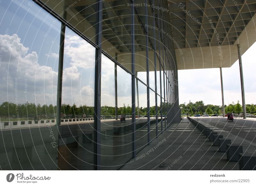
<svg viewBox="0 0 256 186">
<path fill-rule="evenodd" d="M 103 1 L 102 49 L 131 71 L 132 13 L 128 4 L 130 0 Z"/>
</svg>

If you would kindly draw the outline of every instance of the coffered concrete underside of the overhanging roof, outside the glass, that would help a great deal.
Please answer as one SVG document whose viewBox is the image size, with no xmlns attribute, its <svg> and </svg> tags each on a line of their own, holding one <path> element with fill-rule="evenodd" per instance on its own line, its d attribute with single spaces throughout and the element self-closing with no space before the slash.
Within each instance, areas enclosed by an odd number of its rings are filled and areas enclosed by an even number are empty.
<svg viewBox="0 0 256 186">
<path fill-rule="evenodd" d="M 169 1 L 178 70 L 230 67 L 256 41 L 255 0 Z"/>
</svg>

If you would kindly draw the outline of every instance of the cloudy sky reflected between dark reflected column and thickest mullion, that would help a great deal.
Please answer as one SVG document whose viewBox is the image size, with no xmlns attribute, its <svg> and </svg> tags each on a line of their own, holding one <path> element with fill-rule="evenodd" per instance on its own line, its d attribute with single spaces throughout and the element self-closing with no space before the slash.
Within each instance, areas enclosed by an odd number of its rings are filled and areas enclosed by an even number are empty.
<svg viewBox="0 0 256 186">
<path fill-rule="evenodd" d="M 66 27 L 62 103 L 94 105 L 95 48 Z"/>
</svg>

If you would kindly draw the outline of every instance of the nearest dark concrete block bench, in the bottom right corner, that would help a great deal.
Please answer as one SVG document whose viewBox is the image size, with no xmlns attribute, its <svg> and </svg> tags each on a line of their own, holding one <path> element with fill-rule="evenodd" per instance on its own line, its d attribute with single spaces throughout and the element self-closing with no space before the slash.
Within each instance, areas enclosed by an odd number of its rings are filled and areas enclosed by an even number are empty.
<svg viewBox="0 0 256 186">
<path fill-rule="evenodd" d="M 239 170 L 256 170 L 256 154 L 238 153 Z"/>
</svg>

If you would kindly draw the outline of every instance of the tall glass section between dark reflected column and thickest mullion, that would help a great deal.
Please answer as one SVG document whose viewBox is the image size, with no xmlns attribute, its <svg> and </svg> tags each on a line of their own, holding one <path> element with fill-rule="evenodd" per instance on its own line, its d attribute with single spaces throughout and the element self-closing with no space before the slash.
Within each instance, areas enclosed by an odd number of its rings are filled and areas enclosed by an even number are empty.
<svg viewBox="0 0 256 186">
<path fill-rule="evenodd" d="M 59 168 L 93 169 L 95 48 L 66 27 Z M 69 142 L 70 141 L 70 142 Z"/>
</svg>

